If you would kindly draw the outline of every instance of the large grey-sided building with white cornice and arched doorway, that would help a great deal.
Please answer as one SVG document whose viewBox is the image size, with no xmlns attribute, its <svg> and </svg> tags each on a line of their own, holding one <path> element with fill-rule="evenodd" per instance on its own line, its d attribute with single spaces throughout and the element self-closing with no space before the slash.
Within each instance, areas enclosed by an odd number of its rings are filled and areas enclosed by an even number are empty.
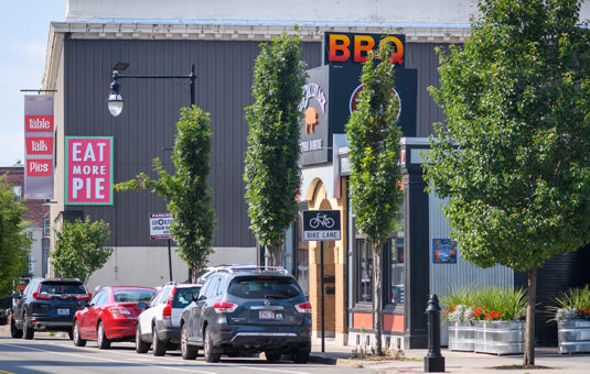
<svg viewBox="0 0 590 374">
<path fill-rule="evenodd" d="M 330 42 L 326 43 L 325 37 L 330 34 L 335 34 L 336 38 L 348 37 L 351 64 L 354 64 L 357 56 L 354 48 L 362 50 L 366 45 L 363 38 L 355 44 L 355 35 L 399 35 L 404 38 L 405 75 L 414 92 L 407 99 L 400 90 L 400 97 L 405 102 L 404 113 L 412 106 L 414 114 L 406 119 L 405 128 L 404 209 L 384 251 L 387 264 L 384 268 L 387 278 L 383 295 L 386 301 L 384 340 L 390 345 L 426 346 L 423 309 L 429 294 L 444 293 L 454 284 L 518 285 L 519 279 L 504 268 L 482 273 L 461 263 L 461 258 L 454 271 L 449 271 L 448 264 L 433 264 L 431 258 L 433 241 L 447 239 L 449 228 L 440 213 L 440 201 L 423 191 L 420 152 L 428 147 L 425 139 L 432 134 L 432 123 L 443 120 L 442 111 L 427 88 L 438 85 L 435 48 L 464 43 L 474 12 L 476 1 L 460 0 L 341 1 L 337 6 L 310 0 L 296 3 L 176 0 L 167 2 L 165 7 L 157 0 L 144 0 L 141 7 L 130 0 L 67 1 L 65 20 L 53 22 L 50 29 L 44 77 L 44 88 L 56 90 L 56 204 L 51 206 L 52 226 L 58 228 L 62 220 L 83 216 L 110 223 L 109 244 L 115 253 L 105 267 L 90 277 L 90 287 L 107 283 L 154 286 L 168 280 L 165 243 L 151 241 L 148 226 L 150 213 L 165 212 L 165 201 L 149 193 L 117 191 L 106 204 L 71 200 L 66 186 L 72 180 L 73 169 L 68 168 L 72 153 L 67 150 L 73 139 L 84 138 L 88 142 L 96 136 L 110 139 L 109 175 L 114 183 L 128 180 L 141 172 L 155 177 L 154 157 L 172 170 L 170 147 L 174 142 L 179 110 L 189 105 L 187 82 L 182 79 L 121 80 L 125 108 L 114 118 L 106 105 L 110 75 L 119 62 L 129 64 L 125 74 L 130 75 L 189 74 L 191 64 L 195 64 L 196 105 L 211 113 L 213 124 L 210 185 L 217 229 L 211 263 L 262 263 L 264 251 L 257 248 L 249 231 L 244 200 L 244 154 L 248 133 L 244 108 L 254 100 L 250 87 L 259 43 L 282 33 L 298 33 L 302 40 L 301 58 L 310 69 L 310 82 L 322 88 L 325 99 L 322 108 L 319 90 L 310 88 L 309 102 L 302 108 L 311 107 L 314 112 L 310 112 L 310 121 L 301 127 L 300 211 L 340 210 L 343 218 L 342 240 L 324 246 L 326 336 L 342 343 L 357 344 L 367 339 L 371 342 L 372 258 L 350 209 L 346 187 L 350 172 L 343 135 L 357 73 L 344 74 L 345 69 L 339 67 L 342 62 L 330 62 L 326 57 Z M 582 16 L 590 16 L 587 3 Z M 334 43 L 346 42 L 342 38 Z M 358 70 L 357 64 L 353 66 L 352 70 Z M 329 89 L 330 79 L 346 80 L 354 87 Z M 408 107 L 407 102 L 412 105 Z M 313 306 L 313 329 L 318 331 L 319 243 L 302 241 L 301 231 L 298 219 L 286 232 L 286 267 L 305 288 Z M 176 256 L 172 265 L 174 280 L 186 279 L 186 266 Z"/>
</svg>

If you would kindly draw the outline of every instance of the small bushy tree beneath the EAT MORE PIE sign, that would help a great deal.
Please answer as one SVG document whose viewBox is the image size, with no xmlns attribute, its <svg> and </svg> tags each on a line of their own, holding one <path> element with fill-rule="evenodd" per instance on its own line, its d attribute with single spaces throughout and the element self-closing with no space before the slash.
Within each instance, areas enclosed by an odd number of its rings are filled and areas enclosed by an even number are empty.
<svg viewBox="0 0 590 374">
<path fill-rule="evenodd" d="M 112 248 L 106 246 L 110 239 L 109 226 L 103 220 L 93 222 L 86 216 L 84 221 L 64 221 L 62 229 L 54 232 L 55 249 L 51 252 L 51 263 L 63 277 L 86 283 L 112 254 Z"/>
</svg>

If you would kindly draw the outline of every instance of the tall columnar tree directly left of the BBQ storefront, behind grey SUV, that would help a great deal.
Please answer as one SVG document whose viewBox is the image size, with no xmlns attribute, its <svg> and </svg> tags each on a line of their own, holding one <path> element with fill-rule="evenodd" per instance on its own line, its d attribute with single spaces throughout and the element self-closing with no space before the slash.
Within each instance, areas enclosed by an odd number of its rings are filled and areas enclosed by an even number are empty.
<svg viewBox="0 0 590 374">
<path fill-rule="evenodd" d="M 297 215 L 301 172 L 298 105 L 305 84 L 299 36 L 277 37 L 260 46 L 254 67 L 255 102 L 246 108 L 246 202 L 251 230 L 268 249 L 270 265 L 282 266 L 285 230 Z"/>
</svg>

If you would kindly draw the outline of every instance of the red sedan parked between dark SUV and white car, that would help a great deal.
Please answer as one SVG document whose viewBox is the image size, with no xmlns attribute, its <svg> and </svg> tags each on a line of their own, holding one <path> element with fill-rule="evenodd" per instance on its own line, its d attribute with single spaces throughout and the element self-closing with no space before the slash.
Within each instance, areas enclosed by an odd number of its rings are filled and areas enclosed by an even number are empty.
<svg viewBox="0 0 590 374">
<path fill-rule="evenodd" d="M 143 311 L 138 304 L 149 302 L 153 294 L 155 288 L 151 287 L 101 288 L 86 308 L 74 315 L 74 344 L 84 346 L 86 340 L 96 340 L 104 350 L 112 341 L 133 341 L 137 317 Z"/>
</svg>

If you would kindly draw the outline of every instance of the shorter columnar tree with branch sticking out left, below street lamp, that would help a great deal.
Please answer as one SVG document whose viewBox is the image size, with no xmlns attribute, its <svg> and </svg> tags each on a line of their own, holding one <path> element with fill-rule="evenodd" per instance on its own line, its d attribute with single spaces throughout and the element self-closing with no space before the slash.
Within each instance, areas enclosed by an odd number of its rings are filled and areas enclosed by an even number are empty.
<svg viewBox="0 0 590 374">
<path fill-rule="evenodd" d="M 118 190 L 150 190 L 169 200 L 173 220 L 170 232 L 179 245 L 176 253 L 189 265 L 193 282 L 213 252 L 215 211 L 211 208 L 211 120 L 193 106 L 182 108 L 172 161 L 176 172 L 169 174 L 159 158 L 153 165 L 160 179 L 140 173 L 136 179 L 116 185 Z"/>
</svg>

